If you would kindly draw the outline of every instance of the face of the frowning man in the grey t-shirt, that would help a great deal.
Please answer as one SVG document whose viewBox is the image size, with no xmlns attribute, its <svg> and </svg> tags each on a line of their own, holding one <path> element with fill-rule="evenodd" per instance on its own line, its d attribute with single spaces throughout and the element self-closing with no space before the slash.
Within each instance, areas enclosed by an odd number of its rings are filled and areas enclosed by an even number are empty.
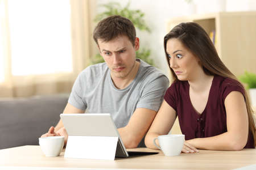
<svg viewBox="0 0 256 170">
<path fill-rule="evenodd" d="M 98 39 L 98 48 L 112 78 L 126 78 L 134 68 L 139 39 L 136 38 L 134 46 L 127 36 L 118 36 L 108 42 Z"/>
</svg>

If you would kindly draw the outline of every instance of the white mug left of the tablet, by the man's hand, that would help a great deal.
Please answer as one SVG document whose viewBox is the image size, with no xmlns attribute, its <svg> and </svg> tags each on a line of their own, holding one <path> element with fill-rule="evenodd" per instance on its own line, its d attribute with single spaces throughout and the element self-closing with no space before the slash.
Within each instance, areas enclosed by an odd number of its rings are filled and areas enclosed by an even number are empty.
<svg viewBox="0 0 256 170">
<path fill-rule="evenodd" d="M 39 138 L 39 145 L 46 156 L 59 156 L 64 146 L 64 137 L 42 137 Z"/>
</svg>

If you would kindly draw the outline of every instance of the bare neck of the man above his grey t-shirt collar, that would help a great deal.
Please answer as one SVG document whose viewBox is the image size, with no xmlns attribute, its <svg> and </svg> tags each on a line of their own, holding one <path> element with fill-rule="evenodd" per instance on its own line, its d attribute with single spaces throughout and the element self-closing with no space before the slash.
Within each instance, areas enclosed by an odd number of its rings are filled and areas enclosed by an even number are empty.
<svg viewBox="0 0 256 170">
<path fill-rule="evenodd" d="M 112 81 L 114 86 L 118 89 L 123 89 L 129 86 L 129 84 L 133 82 L 133 80 L 135 79 L 135 76 L 138 73 L 139 65 L 140 65 L 140 62 L 135 61 L 133 69 L 131 70 L 130 74 L 127 75 L 125 78 L 117 78 L 113 76 Z"/>
</svg>

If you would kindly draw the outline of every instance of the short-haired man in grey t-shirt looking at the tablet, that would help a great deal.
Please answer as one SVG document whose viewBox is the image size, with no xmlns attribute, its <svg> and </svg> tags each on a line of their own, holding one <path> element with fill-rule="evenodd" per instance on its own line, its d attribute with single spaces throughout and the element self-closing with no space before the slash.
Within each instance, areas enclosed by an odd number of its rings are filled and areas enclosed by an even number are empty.
<svg viewBox="0 0 256 170">
<path fill-rule="evenodd" d="M 110 16 L 101 20 L 93 38 L 105 63 L 89 66 L 80 73 L 63 113 L 110 113 L 125 147 L 135 148 L 154 120 L 169 85 L 168 78 L 136 59 L 139 39 L 129 19 Z M 42 136 L 52 135 L 64 135 L 67 142 L 61 120 Z"/>
</svg>

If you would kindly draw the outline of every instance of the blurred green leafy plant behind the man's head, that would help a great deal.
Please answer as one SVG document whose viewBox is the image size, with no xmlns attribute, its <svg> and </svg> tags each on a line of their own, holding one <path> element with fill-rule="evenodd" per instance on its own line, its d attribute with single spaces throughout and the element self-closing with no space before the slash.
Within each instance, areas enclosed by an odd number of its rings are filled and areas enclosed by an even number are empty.
<svg viewBox="0 0 256 170">
<path fill-rule="evenodd" d="M 104 7 L 105 10 L 104 12 L 96 15 L 96 18 L 94 19 L 95 22 L 99 22 L 101 19 L 104 19 L 108 16 L 120 15 L 130 19 L 134 26 L 139 30 L 150 32 L 150 28 L 144 21 L 144 13 L 141 10 L 131 10 L 130 2 L 128 2 L 125 7 L 122 7 L 118 2 L 110 2 L 108 4 L 101 5 L 101 7 Z M 154 66 L 154 61 L 150 58 L 150 53 L 150 49 L 141 47 L 136 52 L 136 56 L 137 58 L 140 58 L 148 64 Z M 100 54 L 96 54 L 96 56 L 94 56 L 91 60 L 93 64 L 104 62 L 104 59 Z"/>
</svg>

